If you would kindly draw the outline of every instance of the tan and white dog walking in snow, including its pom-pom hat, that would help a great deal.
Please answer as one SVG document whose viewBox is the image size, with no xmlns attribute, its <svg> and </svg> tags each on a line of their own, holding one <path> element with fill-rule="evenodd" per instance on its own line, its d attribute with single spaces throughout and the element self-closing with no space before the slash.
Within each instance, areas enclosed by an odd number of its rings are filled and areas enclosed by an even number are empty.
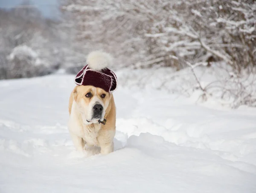
<svg viewBox="0 0 256 193">
<path fill-rule="evenodd" d="M 107 68 L 112 57 L 101 51 L 87 56 L 87 65 L 75 78 L 76 87 L 70 94 L 68 128 L 76 150 L 98 146 L 100 153 L 113 152 L 116 132 L 116 107 L 112 92 L 117 79 Z"/>
</svg>

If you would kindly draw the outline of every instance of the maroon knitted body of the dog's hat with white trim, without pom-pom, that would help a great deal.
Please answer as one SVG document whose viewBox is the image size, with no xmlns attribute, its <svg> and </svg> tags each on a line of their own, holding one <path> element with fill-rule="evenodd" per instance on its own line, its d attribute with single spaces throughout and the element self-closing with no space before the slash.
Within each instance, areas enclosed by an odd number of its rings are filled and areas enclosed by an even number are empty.
<svg viewBox="0 0 256 193">
<path fill-rule="evenodd" d="M 108 68 L 96 71 L 90 69 L 89 65 L 84 66 L 84 68 L 79 71 L 76 75 L 75 83 L 77 85 L 99 87 L 110 93 L 117 88 L 117 78 L 113 71 Z"/>
</svg>

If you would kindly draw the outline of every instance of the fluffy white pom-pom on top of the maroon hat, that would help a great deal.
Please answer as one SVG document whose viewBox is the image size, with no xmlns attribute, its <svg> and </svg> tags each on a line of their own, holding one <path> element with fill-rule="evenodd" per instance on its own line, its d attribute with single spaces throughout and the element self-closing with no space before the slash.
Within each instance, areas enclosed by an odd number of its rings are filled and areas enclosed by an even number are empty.
<svg viewBox="0 0 256 193">
<path fill-rule="evenodd" d="M 112 64 L 113 58 L 110 54 L 103 51 L 92 51 L 87 56 L 87 64 L 90 69 L 101 71 Z"/>
</svg>

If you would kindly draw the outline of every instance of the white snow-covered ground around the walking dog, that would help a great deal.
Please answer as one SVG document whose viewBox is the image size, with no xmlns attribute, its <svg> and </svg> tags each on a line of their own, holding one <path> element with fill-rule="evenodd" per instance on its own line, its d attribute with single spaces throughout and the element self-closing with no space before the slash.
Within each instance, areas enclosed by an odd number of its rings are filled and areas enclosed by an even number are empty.
<svg viewBox="0 0 256 193">
<path fill-rule="evenodd" d="M 256 109 L 123 83 L 115 151 L 83 157 L 67 131 L 73 77 L 0 81 L 0 193 L 256 193 Z"/>
</svg>

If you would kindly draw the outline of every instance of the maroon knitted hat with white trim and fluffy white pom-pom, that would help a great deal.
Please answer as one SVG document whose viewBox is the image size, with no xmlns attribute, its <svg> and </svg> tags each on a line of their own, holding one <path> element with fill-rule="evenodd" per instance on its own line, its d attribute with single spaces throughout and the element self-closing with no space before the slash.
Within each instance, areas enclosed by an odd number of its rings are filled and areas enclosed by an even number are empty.
<svg viewBox="0 0 256 193">
<path fill-rule="evenodd" d="M 77 85 L 91 85 L 113 92 L 117 88 L 116 74 L 107 68 L 112 62 L 110 54 L 93 51 L 87 56 L 87 65 L 76 75 Z"/>
</svg>

